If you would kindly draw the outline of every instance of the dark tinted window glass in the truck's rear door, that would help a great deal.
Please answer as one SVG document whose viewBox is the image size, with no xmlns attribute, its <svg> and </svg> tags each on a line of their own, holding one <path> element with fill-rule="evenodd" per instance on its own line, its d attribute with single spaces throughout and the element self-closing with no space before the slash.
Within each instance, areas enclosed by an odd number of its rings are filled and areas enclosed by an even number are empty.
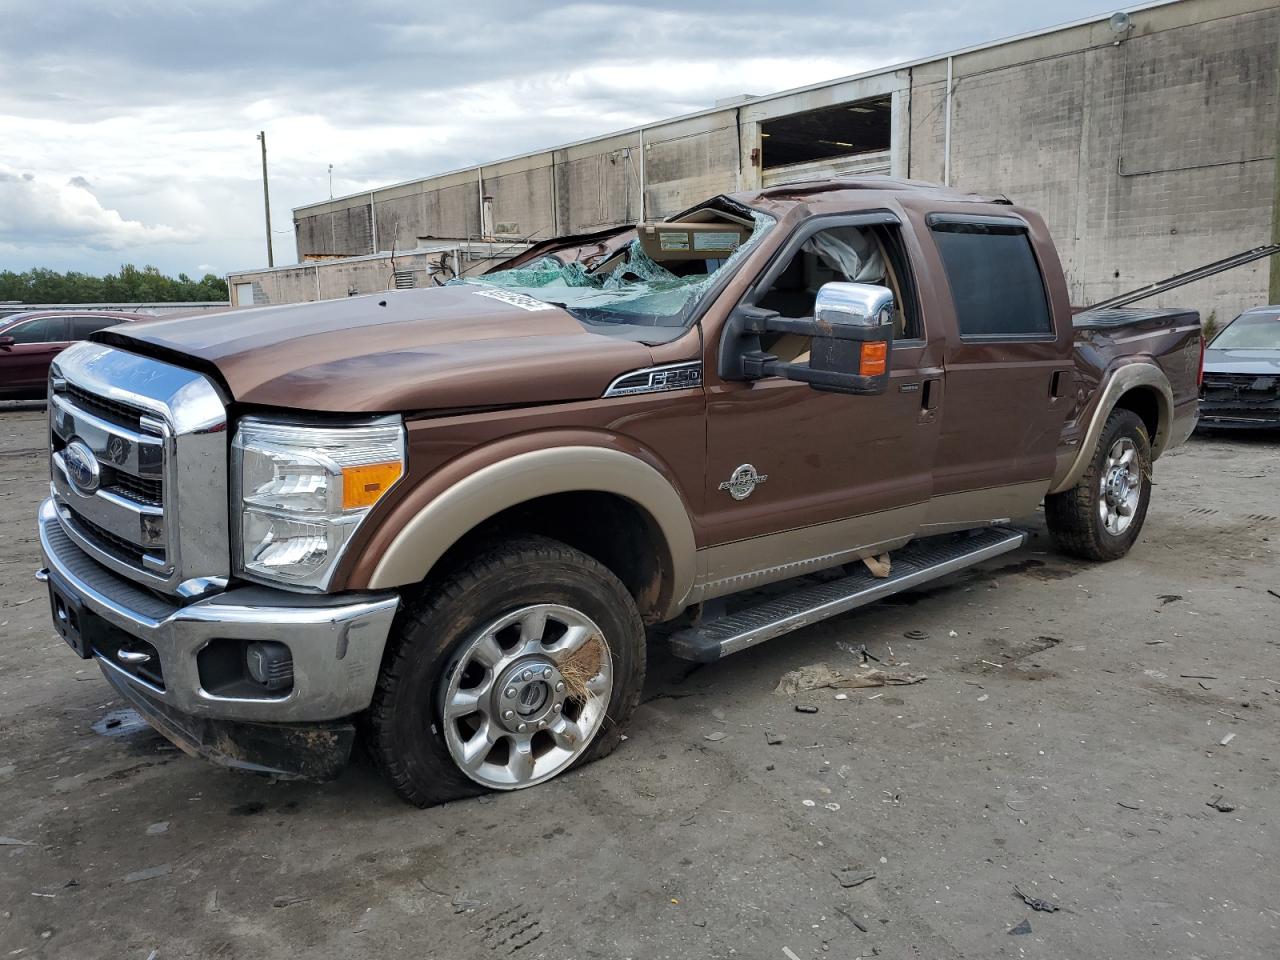
<svg viewBox="0 0 1280 960">
<path fill-rule="evenodd" d="M 1044 280 L 1025 229 L 936 223 L 933 241 L 963 338 L 998 340 L 1053 333 Z"/>
</svg>

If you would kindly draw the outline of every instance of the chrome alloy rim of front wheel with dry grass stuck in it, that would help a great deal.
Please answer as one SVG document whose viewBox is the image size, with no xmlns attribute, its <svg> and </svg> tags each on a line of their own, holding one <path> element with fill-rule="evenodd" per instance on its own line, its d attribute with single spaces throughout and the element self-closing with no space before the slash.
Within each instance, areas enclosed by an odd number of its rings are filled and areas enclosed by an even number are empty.
<svg viewBox="0 0 1280 960">
<path fill-rule="evenodd" d="M 493 790 L 550 780 L 604 722 L 613 659 L 600 628 L 571 607 L 541 603 L 463 641 L 440 698 L 458 768 Z"/>
</svg>

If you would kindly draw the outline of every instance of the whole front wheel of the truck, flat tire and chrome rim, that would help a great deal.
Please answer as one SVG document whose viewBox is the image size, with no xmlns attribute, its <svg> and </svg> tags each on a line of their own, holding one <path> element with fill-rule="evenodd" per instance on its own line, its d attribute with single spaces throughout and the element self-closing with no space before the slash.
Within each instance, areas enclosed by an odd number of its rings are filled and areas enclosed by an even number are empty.
<svg viewBox="0 0 1280 960">
<path fill-rule="evenodd" d="M 398 618 L 374 758 L 419 806 L 541 783 L 617 745 L 644 657 L 635 602 L 600 563 L 544 538 L 494 547 Z"/>
</svg>

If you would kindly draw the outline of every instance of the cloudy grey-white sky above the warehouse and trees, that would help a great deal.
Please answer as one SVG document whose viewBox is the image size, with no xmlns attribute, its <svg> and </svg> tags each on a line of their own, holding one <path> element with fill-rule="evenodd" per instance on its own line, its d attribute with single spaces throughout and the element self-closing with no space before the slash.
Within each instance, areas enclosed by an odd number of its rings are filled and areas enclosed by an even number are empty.
<svg viewBox="0 0 1280 960">
<path fill-rule="evenodd" d="M 329 164 L 340 196 L 1108 9 L 0 0 L 0 269 L 265 264 L 260 129 L 292 262 Z"/>
</svg>

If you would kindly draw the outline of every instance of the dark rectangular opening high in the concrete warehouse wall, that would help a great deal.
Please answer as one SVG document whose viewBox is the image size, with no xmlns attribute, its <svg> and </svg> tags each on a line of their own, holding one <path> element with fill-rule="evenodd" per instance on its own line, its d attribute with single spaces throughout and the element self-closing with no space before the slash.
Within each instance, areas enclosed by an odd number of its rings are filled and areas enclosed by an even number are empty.
<svg viewBox="0 0 1280 960">
<path fill-rule="evenodd" d="M 888 150 L 892 120 L 890 96 L 764 120 L 760 124 L 763 168 Z"/>
</svg>

